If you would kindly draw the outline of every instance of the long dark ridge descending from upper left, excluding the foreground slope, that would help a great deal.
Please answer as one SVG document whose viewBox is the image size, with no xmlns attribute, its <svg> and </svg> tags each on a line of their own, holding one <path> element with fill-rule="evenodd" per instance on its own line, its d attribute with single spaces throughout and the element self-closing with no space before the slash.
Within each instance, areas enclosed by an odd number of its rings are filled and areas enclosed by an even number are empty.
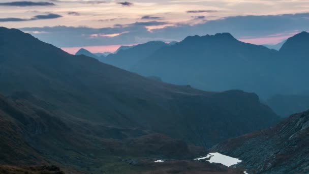
<svg viewBox="0 0 309 174">
<path fill-rule="evenodd" d="M 0 76 L 0 93 L 102 138 L 137 137 L 150 131 L 207 148 L 278 120 L 255 94 L 204 92 L 151 80 L 3 27 Z"/>
</svg>

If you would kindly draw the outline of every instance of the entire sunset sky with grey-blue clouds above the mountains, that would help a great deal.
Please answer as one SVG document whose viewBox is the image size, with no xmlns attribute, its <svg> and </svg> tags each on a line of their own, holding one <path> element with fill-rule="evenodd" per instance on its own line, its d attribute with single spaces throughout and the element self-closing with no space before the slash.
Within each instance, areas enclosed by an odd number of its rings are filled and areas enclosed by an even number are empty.
<svg viewBox="0 0 309 174">
<path fill-rule="evenodd" d="M 276 44 L 309 31 L 309 0 L 0 0 L 0 26 L 70 53 L 223 32 Z"/>
</svg>

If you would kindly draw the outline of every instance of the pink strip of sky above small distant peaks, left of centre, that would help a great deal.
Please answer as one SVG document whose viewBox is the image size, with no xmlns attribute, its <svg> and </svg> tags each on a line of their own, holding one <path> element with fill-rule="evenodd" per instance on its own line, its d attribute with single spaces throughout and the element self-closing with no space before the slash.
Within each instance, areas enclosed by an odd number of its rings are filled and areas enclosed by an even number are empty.
<svg viewBox="0 0 309 174">
<path fill-rule="evenodd" d="M 134 44 L 130 45 L 125 45 L 125 46 L 131 46 Z M 115 52 L 120 46 L 122 45 L 98 45 L 98 46 L 81 46 L 81 47 L 63 47 L 61 48 L 62 50 L 70 53 L 70 54 L 75 54 L 80 48 L 84 48 L 90 52 Z"/>
</svg>

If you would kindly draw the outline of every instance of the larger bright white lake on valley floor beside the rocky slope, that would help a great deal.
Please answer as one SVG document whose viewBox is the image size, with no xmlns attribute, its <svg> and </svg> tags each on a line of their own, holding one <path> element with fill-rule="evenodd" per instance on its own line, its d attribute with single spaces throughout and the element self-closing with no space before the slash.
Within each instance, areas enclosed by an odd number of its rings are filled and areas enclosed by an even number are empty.
<svg viewBox="0 0 309 174">
<path fill-rule="evenodd" d="M 229 157 L 229 156 L 226 156 L 226 155 L 222 155 L 222 154 L 220 154 L 218 152 L 209 153 L 206 157 L 196 158 L 194 160 L 197 160 L 197 161 L 199 161 L 199 160 L 207 160 L 210 163 L 221 163 L 221 164 L 223 164 L 225 166 L 228 166 L 228 167 L 241 162 L 241 160 L 239 160 L 237 158 L 233 158 L 233 157 Z"/>
</svg>

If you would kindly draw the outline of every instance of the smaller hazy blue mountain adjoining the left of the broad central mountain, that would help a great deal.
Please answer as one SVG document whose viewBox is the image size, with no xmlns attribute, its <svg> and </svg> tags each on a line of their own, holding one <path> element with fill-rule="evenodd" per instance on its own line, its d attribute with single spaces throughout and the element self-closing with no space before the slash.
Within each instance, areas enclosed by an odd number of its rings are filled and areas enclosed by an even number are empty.
<svg viewBox="0 0 309 174">
<path fill-rule="evenodd" d="M 114 54 L 109 54 L 104 59 L 101 59 L 101 61 L 121 69 L 129 70 L 145 57 L 167 45 L 162 41 L 151 41 L 135 46 L 120 47 Z"/>
</svg>

